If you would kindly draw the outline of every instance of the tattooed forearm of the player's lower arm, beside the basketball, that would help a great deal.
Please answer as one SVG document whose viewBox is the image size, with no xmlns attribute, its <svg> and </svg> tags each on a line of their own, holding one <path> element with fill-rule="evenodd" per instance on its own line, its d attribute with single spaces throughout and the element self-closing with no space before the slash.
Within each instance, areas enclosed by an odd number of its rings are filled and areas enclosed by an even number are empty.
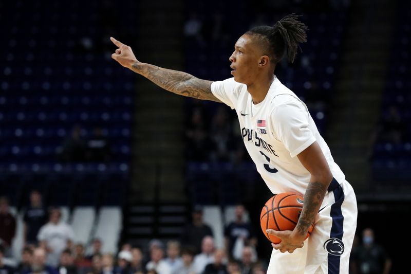
<svg viewBox="0 0 411 274">
<path fill-rule="evenodd" d="M 301 235 L 306 235 L 310 225 L 314 222 L 326 191 L 324 184 L 321 184 L 321 182 L 310 182 L 308 185 L 304 195 L 303 211 L 297 223 L 297 231 Z"/>
</svg>

